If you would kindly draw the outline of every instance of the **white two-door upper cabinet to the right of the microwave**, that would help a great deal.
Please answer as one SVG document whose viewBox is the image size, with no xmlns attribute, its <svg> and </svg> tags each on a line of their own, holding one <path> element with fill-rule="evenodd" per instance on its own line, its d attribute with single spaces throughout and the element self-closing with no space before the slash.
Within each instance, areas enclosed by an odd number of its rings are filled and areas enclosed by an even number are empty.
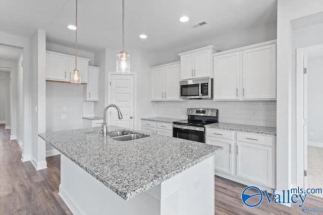
<svg viewBox="0 0 323 215">
<path fill-rule="evenodd" d="M 276 40 L 213 54 L 213 100 L 275 100 Z"/>
</svg>

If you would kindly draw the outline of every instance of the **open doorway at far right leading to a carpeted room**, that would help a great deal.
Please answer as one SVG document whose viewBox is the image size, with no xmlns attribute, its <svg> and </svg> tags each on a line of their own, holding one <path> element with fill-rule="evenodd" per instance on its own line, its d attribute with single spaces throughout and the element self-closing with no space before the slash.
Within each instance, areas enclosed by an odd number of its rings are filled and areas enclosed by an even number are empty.
<svg viewBox="0 0 323 215">
<path fill-rule="evenodd" d="M 298 186 L 323 188 L 323 44 L 297 49 Z M 314 196 L 323 198 L 322 193 Z"/>
</svg>

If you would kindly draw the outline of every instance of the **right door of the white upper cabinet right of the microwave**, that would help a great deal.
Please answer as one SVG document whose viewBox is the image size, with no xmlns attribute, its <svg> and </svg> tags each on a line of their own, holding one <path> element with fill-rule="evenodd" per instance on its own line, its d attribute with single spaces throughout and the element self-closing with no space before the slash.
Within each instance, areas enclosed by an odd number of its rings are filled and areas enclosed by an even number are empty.
<svg viewBox="0 0 323 215">
<path fill-rule="evenodd" d="M 276 99 L 276 44 L 252 48 L 243 55 L 243 98 Z"/>
</svg>

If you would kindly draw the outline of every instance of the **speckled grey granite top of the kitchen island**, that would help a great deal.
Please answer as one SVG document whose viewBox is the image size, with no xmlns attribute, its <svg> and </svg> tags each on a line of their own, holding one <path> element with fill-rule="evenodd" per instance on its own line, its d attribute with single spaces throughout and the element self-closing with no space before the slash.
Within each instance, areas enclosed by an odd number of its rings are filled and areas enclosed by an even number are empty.
<svg viewBox="0 0 323 215">
<path fill-rule="evenodd" d="M 108 130 L 129 129 L 108 126 Z M 99 131 L 100 128 L 88 128 L 39 136 L 125 200 L 172 178 L 222 149 L 220 146 L 156 134 L 136 140 L 117 141 L 103 138 Z"/>
</svg>

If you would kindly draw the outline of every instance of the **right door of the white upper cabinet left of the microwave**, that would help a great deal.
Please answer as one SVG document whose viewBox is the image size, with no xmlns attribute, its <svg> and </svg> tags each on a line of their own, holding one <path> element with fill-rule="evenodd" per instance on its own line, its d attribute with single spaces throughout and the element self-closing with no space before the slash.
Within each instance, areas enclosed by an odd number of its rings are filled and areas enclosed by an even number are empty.
<svg viewBox="0 0 323 215">
<path fill-rule="evenodd" d="M 180 72 L 180 64 L 165 67 L 165 100 L 182 100 L 180 99 Z"/>
</svg>

